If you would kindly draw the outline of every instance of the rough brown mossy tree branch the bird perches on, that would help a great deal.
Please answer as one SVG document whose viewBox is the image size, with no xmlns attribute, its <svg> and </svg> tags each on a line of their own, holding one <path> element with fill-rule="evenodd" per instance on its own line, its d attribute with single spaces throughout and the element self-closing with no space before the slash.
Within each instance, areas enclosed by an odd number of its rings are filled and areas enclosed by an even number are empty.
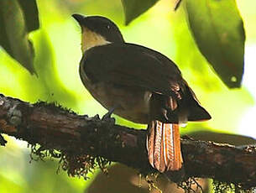
<svg viewBox="0 0 256 193">
<path fill-rule="evenodd" d="M 145 130 L 112 125 L 99 117 L 76 115 L 55 104 L 32 105 L 0 95 L 0 133 L 70 156 L 100 156 L 143 174 L 155 171 L 147 158 Z M 256 185 L 255 147 L 239 149 L 190 138 L 181 139 L 181 145 L 186 178 L 212 178 L 243 188 Z"/>
</svg>

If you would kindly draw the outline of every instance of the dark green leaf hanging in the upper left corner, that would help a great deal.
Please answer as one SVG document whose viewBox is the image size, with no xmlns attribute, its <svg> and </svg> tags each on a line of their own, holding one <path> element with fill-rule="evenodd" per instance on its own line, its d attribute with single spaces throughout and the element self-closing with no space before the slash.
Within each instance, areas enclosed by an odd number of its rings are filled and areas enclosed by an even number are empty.
<svg viewBox="0 0 256 193">
<path fill-rule="evenodd" d="M 0 45 L 31 74 L 35 73 L 34 48 L 28 38 L 30 31 L 39 28 L 35 0 L 1 0 L 0 23 Z"/>
</svg>

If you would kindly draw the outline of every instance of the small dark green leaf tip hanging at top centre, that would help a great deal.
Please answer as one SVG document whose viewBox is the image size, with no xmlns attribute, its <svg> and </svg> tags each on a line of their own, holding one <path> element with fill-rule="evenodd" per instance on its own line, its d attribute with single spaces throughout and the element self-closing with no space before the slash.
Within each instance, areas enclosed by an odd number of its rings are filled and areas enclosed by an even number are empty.
<svg viewBox="0 0 256 193">
<path fill-rule="evenodd" d="M 137 18 L 149 8 L 154 6 L 159 0 L 122 0 L 125 14 L 125 24 L 127 25 L 134 18 Z"/>
</svg>

